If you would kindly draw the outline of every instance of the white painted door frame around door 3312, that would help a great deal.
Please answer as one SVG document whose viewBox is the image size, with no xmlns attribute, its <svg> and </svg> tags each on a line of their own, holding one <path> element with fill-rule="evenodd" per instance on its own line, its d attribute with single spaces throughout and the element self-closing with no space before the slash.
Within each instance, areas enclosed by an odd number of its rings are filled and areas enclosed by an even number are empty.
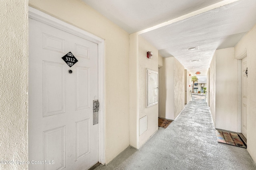
<svg viewBox="0 0 256 170">
<path fill-rule="evenodd" d="M 73 25 L 70 25 L 64 21 L 58 20 L 48 14 L 45 14 L 35 8 L 28 7 L 28 18 L 40 21 L 47 25 L 58 28 L 62 31 L 66 31 L 78 37 L 87 39 L 98 44 L 98 100 L 100 102 L 100 108 L 98 111 L 98 161 L 101 164 L 105 164 L 105 61 L 104 61 L 104 39 L 101 39 L 91 33 L 88 33 L 82 29 L 79 29 Z M 29 109 L 29 108 L 28 108 Z M 29 120 L 28 120 L 29 121 Z"/>
</svg>

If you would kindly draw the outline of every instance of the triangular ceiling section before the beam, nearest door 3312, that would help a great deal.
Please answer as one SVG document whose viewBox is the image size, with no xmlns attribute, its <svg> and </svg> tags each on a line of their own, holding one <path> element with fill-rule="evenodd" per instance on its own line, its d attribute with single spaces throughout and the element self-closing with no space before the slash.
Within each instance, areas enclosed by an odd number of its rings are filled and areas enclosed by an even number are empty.
<svg viewBox="0 0 256 170">
<path fill-rule="evenodd" d="M 222 0 L 83 0 L 128 33 L 172 20 Z"/>
</svg>

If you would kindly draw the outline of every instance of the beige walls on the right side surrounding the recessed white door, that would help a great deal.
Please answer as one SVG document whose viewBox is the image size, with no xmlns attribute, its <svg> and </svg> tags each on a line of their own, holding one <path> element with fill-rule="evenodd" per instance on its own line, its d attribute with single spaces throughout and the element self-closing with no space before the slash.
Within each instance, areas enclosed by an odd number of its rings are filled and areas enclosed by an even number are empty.
<svg viewBox="0 0 256 170">
<path fill-rule="evenodd" d="M 238 59 L 247 56 L 248 62 L 248 110 L 247 110 L 247 150 L 256 162 L 256 26 L 249 31 L 234 48 L 217 50 L 213 56 L 209 68 L 209 105 L 216 128 L 239 131 L 241 125 L 238 116 L 239 98 L 241 82 L 239 73 L 240 62 Z M 216 70 L 215 70 L 216 68 Z M 216 77 L 215 77 L 216 71 Z M 225 74 L 225 75 L 222 75 Z M 215 79 L 216 78 L 216 79 Z M 230 85 L 232 84 L 232 86 Z M 215 87 L 216 86 L 216 92 Z M 216 111 L 215 111 L 215 93 L 216 93 Z M 224 93 L 224 94 L 223 94 Z M 228 101 L 228 102 L 226 102 Z M 230 102 L 230 103 L 229 103 Z M 215 116 L 216 113 L 216 116 Z M 216 121 L 215 121 L 216 117 Z M 222 119 L 222 120 L 221 120 Z M 227 126 L 228 125 L 228 126 Z"/>
</svg>

